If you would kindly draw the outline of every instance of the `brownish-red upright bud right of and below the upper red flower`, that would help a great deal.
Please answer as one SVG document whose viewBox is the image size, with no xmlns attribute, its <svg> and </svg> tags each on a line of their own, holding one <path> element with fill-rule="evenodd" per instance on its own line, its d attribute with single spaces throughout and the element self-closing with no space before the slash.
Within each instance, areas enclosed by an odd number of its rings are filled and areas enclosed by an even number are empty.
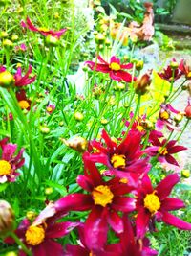
<svg viewBox="0 0 191 256">
<path fill-rule="evenodd" d="M 151 78 L 148 74 L 144 74 L 140 79 L 135 81 L 135 92 L 143 95 L 147 92 L 148 86 L 151 84 Z"/>
</svg>

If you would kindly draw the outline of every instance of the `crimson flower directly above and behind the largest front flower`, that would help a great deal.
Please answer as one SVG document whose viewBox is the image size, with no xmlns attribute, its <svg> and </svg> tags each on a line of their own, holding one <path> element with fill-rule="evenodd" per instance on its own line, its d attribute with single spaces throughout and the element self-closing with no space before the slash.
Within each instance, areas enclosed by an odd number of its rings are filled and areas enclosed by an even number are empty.
<svg viewBox="0 0 191 256">
<path fill-rule="evenodd" d="M 102 163 L 109 168 L 111 175 L 120 178 L 127 178 L 128 184 L 137 186 L 141 175 L 150 169 L 148 158 L 140 158 L 146 151 L 141 151 L 142 134 L 138 130 L 130 130 L 123 141 L 117 145 L 105 130 L 102 130 L 102 139 L 106 147 L 101 142 L 93 140 L 90 142 L 90 151 L 85 152 L 84 157 L 95 163 Z"/>
</svg>

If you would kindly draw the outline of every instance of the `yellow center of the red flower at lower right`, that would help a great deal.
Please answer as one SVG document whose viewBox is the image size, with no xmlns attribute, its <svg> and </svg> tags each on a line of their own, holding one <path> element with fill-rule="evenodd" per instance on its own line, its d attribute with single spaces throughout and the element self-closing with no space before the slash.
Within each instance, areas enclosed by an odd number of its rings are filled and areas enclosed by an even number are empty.
<svg viewBox="0 0 191 256">
<path fill-rule="evenodd" d="M 160 208 L 159 197 L 155 193 L 154 191 L 152 194 L 147 194 L 144 198 L 144 207 L 152 214 L 156 213 Z"/>
</svg>

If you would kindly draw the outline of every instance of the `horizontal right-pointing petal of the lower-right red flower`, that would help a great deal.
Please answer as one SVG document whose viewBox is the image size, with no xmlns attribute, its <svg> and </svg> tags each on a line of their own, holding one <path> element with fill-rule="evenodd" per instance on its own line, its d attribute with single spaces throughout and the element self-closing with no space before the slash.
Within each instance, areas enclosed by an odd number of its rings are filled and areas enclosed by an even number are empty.
<svg viewBox="0 0 191 256">
<path fill-rule="evenodd" d="M 175 211 L 185 207 L 185 204 L 179 198 L 165 198 L 161 202 L 161 211 Z"/>
</svg>

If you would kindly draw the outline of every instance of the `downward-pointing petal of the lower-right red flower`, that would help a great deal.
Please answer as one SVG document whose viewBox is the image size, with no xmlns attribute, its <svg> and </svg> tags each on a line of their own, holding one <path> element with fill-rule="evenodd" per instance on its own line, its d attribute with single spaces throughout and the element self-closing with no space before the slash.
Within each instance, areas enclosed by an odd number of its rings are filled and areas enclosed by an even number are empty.
<svg viewBox="0 0 191 256">
<path fill-rule="evenodd" d="M 150 214 L 142 207 L 138 210 L 138 216 L 136 219 L 136 232 L 138 238 L 143 238 L 148 224 L 149 224 Z"/>
</svg>

